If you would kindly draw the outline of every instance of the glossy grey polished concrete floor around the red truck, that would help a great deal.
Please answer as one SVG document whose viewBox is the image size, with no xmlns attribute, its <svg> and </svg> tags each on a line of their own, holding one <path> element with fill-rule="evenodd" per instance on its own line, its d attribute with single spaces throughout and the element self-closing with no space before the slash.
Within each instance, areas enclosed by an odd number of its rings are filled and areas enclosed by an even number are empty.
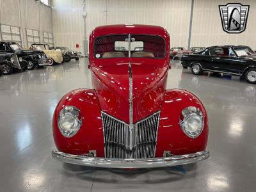
<svg viewBox="0 0 256 192">
<path fill-rule="evenodd" d="M 168 88 L 195 93 L 209 115 L 206 161 L 144 170 L 87 168 L 51 157 L 52 113 L 63 94 L 92 88 L 86 59 L 0 77 L 0 191 L 256 191 L 256 85 L 194 76 L 179 61 Z"/>
</svg>

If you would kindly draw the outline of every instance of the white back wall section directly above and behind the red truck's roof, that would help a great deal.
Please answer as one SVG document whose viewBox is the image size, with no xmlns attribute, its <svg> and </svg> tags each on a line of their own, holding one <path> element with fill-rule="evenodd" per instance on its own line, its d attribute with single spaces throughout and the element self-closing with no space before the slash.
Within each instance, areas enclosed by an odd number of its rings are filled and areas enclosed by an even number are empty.
<svg viewBox="0 0 256 192">
<path fill-rule="evenodd" d="M 190 10 L 191 0 L 87 0 L 86 35 L 104 24 L 151 24 L 167 29 L 172 47 L 188 47 Z"/>
</svg>

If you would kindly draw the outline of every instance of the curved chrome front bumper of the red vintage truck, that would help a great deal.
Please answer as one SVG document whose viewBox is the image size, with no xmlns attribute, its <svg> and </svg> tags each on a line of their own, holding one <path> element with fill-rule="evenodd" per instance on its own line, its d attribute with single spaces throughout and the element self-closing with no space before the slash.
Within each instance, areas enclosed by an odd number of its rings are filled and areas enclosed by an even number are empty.
<svg viewBox="0 0 256 192">
<path fill-rule="evenodd" d="M 101 168 L 157 168 L 176 166 L 202 161 L 207 159 L 209 155 L 209 151 L 204 150 L 195 154 L 152 159 L 106 159 L 103 157 L 75 156 L 59 152 L 58 150 L 52 150 L 52 157 L 58 161 Z"/>
</svg>

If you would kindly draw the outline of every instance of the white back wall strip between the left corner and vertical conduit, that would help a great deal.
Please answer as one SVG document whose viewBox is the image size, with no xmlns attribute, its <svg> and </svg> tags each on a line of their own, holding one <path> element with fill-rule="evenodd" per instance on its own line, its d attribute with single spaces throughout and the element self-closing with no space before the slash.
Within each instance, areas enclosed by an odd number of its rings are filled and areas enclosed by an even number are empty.
<svg viewBox="0 0 256 192">
<path fill-rule="evenodd" d="M 52 23 L 54 45 L 84 50 L 83 0 L 53 0 Z M 76 48 L 79 44 L 79 49 Z M 84 53 L 84 52 L 83 52 Z"/>
</svg>

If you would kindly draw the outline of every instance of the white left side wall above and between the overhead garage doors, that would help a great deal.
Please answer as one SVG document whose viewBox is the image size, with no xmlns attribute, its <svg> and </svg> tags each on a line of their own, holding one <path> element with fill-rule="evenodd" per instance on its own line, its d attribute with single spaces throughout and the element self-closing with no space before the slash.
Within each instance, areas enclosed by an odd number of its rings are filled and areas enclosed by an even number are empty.
<svg viewBox="0 0 256 192">
<path fill-rule="evenodd" d="M 0 24 L 20 27 L 22 45 L 27 46 L 26 29 L 52 33 L 51 7 L 35 3 L 35 0 L 0 0 Z M 0 36 L 1 38 L 1 36 Z"/>
</svg>

